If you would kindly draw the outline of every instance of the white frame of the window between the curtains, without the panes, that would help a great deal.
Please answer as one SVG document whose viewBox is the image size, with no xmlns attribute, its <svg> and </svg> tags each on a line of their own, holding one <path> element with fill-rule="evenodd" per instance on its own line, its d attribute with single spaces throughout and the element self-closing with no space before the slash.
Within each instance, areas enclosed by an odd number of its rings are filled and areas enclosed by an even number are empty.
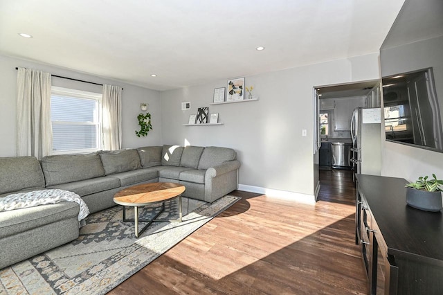
<svg viewBox="0 0 443 295">
<path fill-rule="evenodd" d="M 84 100 L 96 100 L 97 103 L 97 121 L 96 122 L 73 122 L 73 121 L 62 121 L 62 120 L 52 120 L 51 116 L 51 128 L 53 125 L 96 125 L 97 126 L 97 134 L 96 134 L 96 148 L 88 148 L 88 149 L 75 149 L 75 150 L 53 150 L 54 146 L 51 147 L 52 154 L 86 154 L 89 152 L 97 152 L 102 149 L 102 93 L 90 92 L 90 91 L 82 91 L 78 89 L 70 89 L 64 87 L 51 87 L 51 102 L 53 95 L 61 95 L 70 98 L 80 98 Z M 52 111 L 52 105 L 51 105 Z M 53 134 L 52 134 L 52 138 Z"/>
</svg>

